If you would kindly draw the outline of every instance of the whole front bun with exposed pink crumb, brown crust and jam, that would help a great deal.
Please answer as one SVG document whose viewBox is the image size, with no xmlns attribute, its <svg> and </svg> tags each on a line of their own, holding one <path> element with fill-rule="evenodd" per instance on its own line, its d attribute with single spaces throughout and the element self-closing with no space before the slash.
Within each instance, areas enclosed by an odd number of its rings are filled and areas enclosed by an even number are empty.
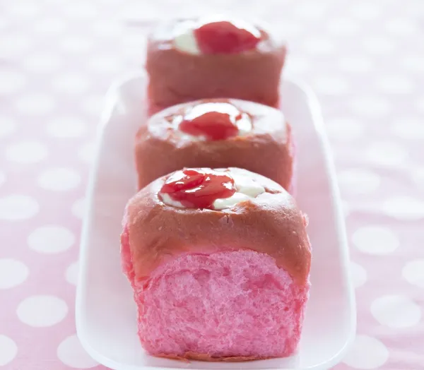
<svg viewBox="0 0 424 370">
<path fill-rule="evenodd" d="M 310 288 L 307 219 L 245 169 L 184 169 L 126 205 L 122 265 L 144 349 L 242 361 L 295 352 Z"/>
</svg>

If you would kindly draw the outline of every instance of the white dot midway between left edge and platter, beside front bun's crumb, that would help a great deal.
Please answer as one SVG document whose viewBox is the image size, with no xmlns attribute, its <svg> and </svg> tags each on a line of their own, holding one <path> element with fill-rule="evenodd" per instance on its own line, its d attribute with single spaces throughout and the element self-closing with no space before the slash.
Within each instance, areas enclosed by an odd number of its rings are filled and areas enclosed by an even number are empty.
<svg viewBox="0 0 424 370">
<path fill-rule="evenodd" d="M 23 323 L 35 328 L 44 328 L 60 323 L 68 314 L 63 299 L 51 295 L 34 295 L 24 299 L 16 309 Z"/>
</svg>

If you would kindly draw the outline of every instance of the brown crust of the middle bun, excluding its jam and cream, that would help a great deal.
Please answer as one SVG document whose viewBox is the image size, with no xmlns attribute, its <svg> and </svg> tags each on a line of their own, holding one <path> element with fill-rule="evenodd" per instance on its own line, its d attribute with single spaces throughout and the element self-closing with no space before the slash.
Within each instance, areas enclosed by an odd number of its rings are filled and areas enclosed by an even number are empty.
<svg viewBox="0 0 424 370">
<path fill-rule="evenodd" d="M 245 136 L 222 141 L 190 140 L 175 130 L 172 118 L 199 102 L 231 102 L 252 118 Z M 244 100 L 199 100 L 169 107 L 153 115 L 137 135 L 135 161 L 139 189 L 183 167 L 240 167 L 264 175 L 290 191 L 293 178 L 293 141 L 283 113 Z"/>
</svg>

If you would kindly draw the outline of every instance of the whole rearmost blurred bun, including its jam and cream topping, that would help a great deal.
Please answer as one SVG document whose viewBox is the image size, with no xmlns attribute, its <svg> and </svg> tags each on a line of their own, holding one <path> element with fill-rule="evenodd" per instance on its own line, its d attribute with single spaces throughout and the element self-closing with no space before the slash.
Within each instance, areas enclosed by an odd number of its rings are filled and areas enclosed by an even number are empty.
<svg viewBox="0 0 424 370">
<path fill-rule="evenodd" d="M 232 97 L 278 107 L 285 45 L 261 25 L 222 17 L 174 20 L 148 39 L 150 112 Z"/>
</svg>

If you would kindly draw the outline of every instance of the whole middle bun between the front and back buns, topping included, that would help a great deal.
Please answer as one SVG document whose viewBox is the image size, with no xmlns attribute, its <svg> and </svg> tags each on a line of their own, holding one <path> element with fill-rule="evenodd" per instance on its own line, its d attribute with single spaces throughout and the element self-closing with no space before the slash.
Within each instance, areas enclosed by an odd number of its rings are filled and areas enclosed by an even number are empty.
<svg viewBox="0 0 424 370">
<path fill-rule="evenodd" d="M 136 135 L 139 189 L 184 167 L 240 167 L 291 191 L 293 156 L 283 113 L 245 100 L 197 100 L 169 107 Z"/>
</svg>

